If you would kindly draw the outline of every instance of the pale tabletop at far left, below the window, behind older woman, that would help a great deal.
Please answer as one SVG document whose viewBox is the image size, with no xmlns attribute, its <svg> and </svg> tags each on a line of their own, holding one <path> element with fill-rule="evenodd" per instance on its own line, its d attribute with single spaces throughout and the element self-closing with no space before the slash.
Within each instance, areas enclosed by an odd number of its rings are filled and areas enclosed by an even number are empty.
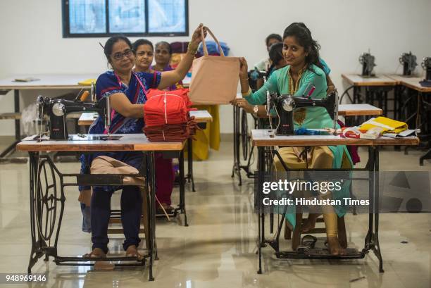
<svg viewBox="0 0 431 288">
<path fill-rule="evenodd" d="M 15 79 L 27 77 L 39 80 L 32 82 L 15 82 Z M 0 89 L 81 89 L 89 88 L 89 85 L 81 85 L 78 82 L 87 79 L 96 79 L 95 74 L 70 74 L 70 75 L 15 75 L 0 80 Z"/>
</svg>

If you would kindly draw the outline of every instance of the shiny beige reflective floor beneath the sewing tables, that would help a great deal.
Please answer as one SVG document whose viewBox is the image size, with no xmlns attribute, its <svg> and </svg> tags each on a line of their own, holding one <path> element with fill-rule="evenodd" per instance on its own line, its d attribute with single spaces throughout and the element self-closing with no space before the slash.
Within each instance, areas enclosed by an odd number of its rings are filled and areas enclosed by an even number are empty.
<svg viewBox="0 0 431 288">
<path fill-rule="evenodd" d="M 0 147 L 1 148 L 1 147 Z M 430 161 L 418 165 L 422 151 L 406 156 L 393 147 L 381 152 L 382 170 L 430 170 Z M 361 156 L 366 159 L 365 151 Z M 78 163 L 59 163 L 63 172 L 75 172 Z M 253 181 L 242 187 L 230 177 L 232 142 L 212 151 L 211 160 L 194 163 L 196 192 L 187 186 L 189 227 L 182 215 L 157 221 L 160 260 L 148 270 L 133 268 L 110 272 L 57 266 L 40 259 L 34 273 L 49 273 L 45 283 L 0 284 L 0 287 L 431 287 L 431 215 L 385 214 L 380 220 L 380 244 L 385 273 L 378 273 L 373 253 L 355 261 L 280 261 L 263 249 L 263 275 L 257 275 L 257 218 L 253 207 Z M 30 255 L 28 164 L 0 165 L 0 273 L 25 273 Z M 82 232 L 77 191 L 67 190 L 58 253 L 82 255 L 90 251 L 90 235 Z M 175 188 L 174 203 L 178 192 Z M 118 205 L 119 195 L 113 197 Z M 368 215 L 347 215 L 349 246 L 361 249 Z M 112 236 L 112 235 L 111 235 Z M 123 239 L 111 237 L 109 248 L 122 253 Z M 404 243 L 401 243 L 404 242 Z M 143 242 L 142 242 L 143 244 Z M 283 248 L 290 246 L 282 240 Z"/>
</svg>

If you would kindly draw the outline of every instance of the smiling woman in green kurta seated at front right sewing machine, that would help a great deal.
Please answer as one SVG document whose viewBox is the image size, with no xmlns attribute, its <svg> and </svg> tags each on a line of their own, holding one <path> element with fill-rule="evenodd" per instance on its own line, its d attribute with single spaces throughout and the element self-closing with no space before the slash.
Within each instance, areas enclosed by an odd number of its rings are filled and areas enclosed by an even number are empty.
<svg viewBox="0 0 431 288">
<path fill-rule="evenodd" d="M 247 63 L 241 58 L 241 69 L 239 79 L 243 99 L 236 99 L 233 104 L 244 108 L 246 112 L 257 115 L 266 115 L 266 92 L 278 94 L 291 94 L 304 96 L 315 87 L 311 97 L 323 99 L 327 93 L 326 75 L 319 61 L 317 42 L 311 37 L 311 32 L 304 23 L 292 23 L 286 28 L 283 35 L 283 56 L 287 62 L 285 68 L 276 70 L 268 81 L 256 92 L 251 92 L 247 78 Z M 294 128 L 304 127 L 307 129 L 318 129 L 333 127 L 333 120 L 323 107 L 298 108 L 294 111 Z M 304 147 L 283 147 L 279 149 L 283 161 L 290 169 L 300 168 L 346 168 L 351 167 L 351 159 L 346 146 L 319 146 L 313 149 L 313 163 L 306 163 L 300 154 Z M 278 158 L 274 159 L 275 168 L 282 170 Z M 332 194 L 335 199 L 348 196 L 349 192 L 344 185 L 342 191 Z M 335 211 L 334 211 L 335 208 Z M 340 207 L 323 208 L 323 217 L 327 231 L 330 253 L 334 255 L 344 254 L 346 243 L 339 243 L 337 235 L 337 214 L 344 215 Z M 337 213 L 337 214 L 335 214 Z M 310 214 L 303 227 L 303 232 L 313 229 L 318 214 Z M 287 220 L 294 227 L 295 216 L 287 215 Z M 294 249 L 296 244 L 292 244 Z"/>
</svg>

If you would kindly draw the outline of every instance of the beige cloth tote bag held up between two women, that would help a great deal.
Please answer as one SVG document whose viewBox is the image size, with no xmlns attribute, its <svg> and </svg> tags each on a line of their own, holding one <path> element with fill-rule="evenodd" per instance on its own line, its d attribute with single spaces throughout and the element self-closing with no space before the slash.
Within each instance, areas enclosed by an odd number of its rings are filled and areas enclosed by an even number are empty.
<svg viewBox="0 0 431 288">
<path fill-rule="evenodd" d="M 189 98 L 193 104 L 229 104 L 237 95 L 239 80 L 239 58 L 225 57 L 220 43 L 211 30 L 207 30 L 218 44 L 220 56 L 208 56 L 201 29 L 204 56 L 193 61 Z"/>
</svg>

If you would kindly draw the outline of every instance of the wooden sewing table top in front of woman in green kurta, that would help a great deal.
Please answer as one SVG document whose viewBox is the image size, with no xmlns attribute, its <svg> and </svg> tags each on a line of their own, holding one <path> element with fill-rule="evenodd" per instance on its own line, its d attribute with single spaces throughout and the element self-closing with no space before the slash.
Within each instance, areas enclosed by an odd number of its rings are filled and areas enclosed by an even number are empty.
<svg viewBox="0 0 431 288">
<path fill-rule="evenodd" d="M 251 130 L 254 146 L 328 146 L 328 145 L 358 145 L 358 146 L 397 146 L 418 145 L 418 137 L 372 139 L 342 138 L 339 135 L 292 135 L 270 137 L 268 129 Z"/>
</svg>

